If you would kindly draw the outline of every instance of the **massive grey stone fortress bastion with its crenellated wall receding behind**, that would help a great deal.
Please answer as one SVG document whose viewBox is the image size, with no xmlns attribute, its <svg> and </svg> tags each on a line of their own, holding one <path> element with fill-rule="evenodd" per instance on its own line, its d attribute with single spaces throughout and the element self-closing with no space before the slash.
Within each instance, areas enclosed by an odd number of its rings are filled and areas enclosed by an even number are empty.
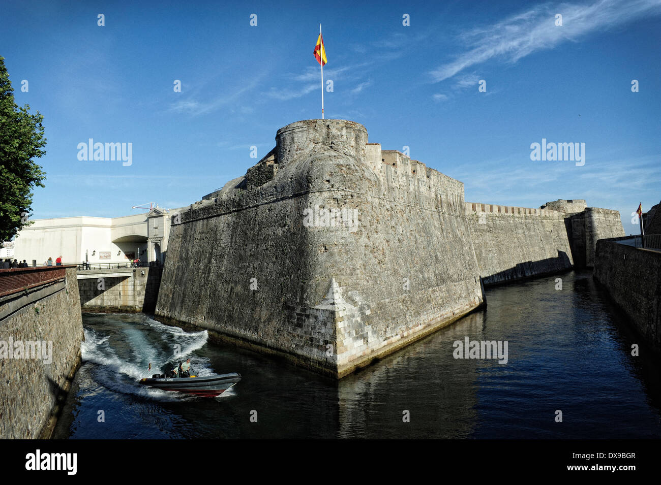
<svg viewBox="0 0 661 485">
<path fill-rule="evenodd" d="M 563 212 L 486 207 L 358 123 L 298 121 L 181 212 L 155 314 L 342 377 L 483 305 L 483 281 L 571 267 Z"/>
</svg>

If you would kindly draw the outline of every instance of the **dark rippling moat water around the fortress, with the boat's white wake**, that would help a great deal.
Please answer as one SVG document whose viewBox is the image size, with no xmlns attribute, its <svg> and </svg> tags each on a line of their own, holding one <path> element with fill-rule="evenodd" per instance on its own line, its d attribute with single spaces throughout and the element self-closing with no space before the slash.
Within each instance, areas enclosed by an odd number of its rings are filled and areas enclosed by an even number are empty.
<svg viewBox="0 0 661 485">
<path fill-rule="evenodd" d="M 55 437 L 661 437 L 661 361 L 592 273 L 488 288 L 486 300 L 339 382 L 147 315 L 84 313 L 83 366 Z M 507 340 L 507 363 L 455 359 L 465 337 Z M 174 348 L 199 375 L 239 372 L 243 381 L 214 399 L 141 387 Z"/>
</svg>

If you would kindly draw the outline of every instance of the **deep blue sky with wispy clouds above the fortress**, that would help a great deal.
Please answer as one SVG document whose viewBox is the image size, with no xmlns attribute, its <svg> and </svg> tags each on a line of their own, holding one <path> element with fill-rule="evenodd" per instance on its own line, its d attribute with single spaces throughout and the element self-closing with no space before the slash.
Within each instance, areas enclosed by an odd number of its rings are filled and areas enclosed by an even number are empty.
<svg viewBox="0 0 661 485">
<path fill-rule="evenodd" d="M 48 139 L 32 218 L 182 207 L 245 174 L 251 146 L 321 117 L 320 22 L 326 117 L 408 146 L 467 201 L 586 199 L 637 234 L 631 212 L 661 199 L 660 0 L 3 4 L 0 55 Z M 132 143 L 132 164 L 78 160 L 90 138 Z M 585 164 L 531 160 L 542 139 L 585 143 Z"/>
</svg>

